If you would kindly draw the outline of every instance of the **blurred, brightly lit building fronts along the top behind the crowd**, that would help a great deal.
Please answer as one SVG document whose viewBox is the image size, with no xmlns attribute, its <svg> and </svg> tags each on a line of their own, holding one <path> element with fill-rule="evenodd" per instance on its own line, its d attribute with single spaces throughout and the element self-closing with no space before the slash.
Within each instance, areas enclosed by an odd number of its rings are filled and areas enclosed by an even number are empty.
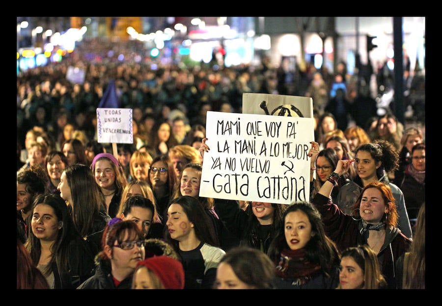
<svg viewBox="0 0 442 306">
<path fill-rule="evenodd" d="M 124 42 L 149 36 L 144 42 L 146 50 L 157 48 L 160 55 L 167 48 L 187 48 L 193 55 L 199 54 L 200 60 L 210 61 L 220 51 L 227 66 L 258 63 L 264 55 L 278 66 L 282 57 L 293 57 L 299 64 L 311 62 L 318 68 L 324 64 L 330 71 L 339 61 L 345 61 L 352 74 L 358 56 L 362 63 L 371 63 L 375 71 L 385 62 L 393 62 L 392 20 L 393 17 L 17 17 L 17 49 L 43 48 L 51 40 L 46 29 L 54 34 L 75 28 L 84 29 L 83 39 L 106 37 Z M 27 28 L 20 27 L 23 21 L 28 22 Z M 425 17 L 402 17 L 402 21 L 404 56 L 411 69 L 424 69 Z M 177 25 L 182 28 L 177 29 Z M 36 32 L 38 26 L 43 29 L 41 32 Z M 128 28 L 135 34 L 129 34 Z M 158 47 L 158 40 L 152 37 L 164 35 L 166 29 L 173 34 Z M 377 47 L 370 52 L 366 51 L 367 35 L 376 36 Z M 169 52 L 167 56 L 170 54 L 173 55 Z"/>
</svg>

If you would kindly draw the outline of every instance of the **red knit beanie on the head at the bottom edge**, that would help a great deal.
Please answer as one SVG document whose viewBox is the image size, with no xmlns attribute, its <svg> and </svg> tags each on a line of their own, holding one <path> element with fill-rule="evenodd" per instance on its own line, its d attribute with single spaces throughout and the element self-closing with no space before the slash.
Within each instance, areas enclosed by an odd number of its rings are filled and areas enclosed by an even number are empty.
<svg viewBox="0 0 442 306">
<path fill-rule="evenodd" d="M 184 289 L 183 265 L 178 260 L 161 255 L 153 256 L 137 263 L 143 265 L 160 278 L 165 289 Z"/>
</svg>

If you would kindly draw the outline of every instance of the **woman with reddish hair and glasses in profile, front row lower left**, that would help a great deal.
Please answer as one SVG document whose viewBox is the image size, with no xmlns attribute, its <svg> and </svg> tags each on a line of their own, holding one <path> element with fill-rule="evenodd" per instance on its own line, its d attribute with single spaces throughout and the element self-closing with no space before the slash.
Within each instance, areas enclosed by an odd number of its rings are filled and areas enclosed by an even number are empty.
<svg viewBox="0 0 442 306">
<path fill-rule="evenodd" d="M 95 256 L 95 273 L 77 289 L 130 289 L 137 263 L 144 260 L 144 238 L 137 224 L 113 218 Z"/>
</svg>

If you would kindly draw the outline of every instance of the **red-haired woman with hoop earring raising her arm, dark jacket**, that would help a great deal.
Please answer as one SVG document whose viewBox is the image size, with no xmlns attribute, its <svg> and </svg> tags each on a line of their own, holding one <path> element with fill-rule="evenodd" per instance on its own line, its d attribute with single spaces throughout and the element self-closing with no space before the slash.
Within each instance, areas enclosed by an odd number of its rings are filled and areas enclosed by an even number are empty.
<svg viewBox="0 0 442 306">
<path fill-rule="evenodd" d="M 313 146 L 318 146 L 313 143 Z M 313 158 L 313 157 L 312 157 Z M 410 249 L 411 240 L 397 228 L 398 214 L 391 189 L 385 183 L 367 184 L 353 206 L 353 215 L 342 212 L 329 197 L 337 178 L 351 167 L 355 160 L 339 160 L 330 178 L 312 199 L 322 215 L 326 234 L 340 251 L 367 244 L 377 253 L 388 288 L 396 288 L 394 264 Z"/>
</svg>

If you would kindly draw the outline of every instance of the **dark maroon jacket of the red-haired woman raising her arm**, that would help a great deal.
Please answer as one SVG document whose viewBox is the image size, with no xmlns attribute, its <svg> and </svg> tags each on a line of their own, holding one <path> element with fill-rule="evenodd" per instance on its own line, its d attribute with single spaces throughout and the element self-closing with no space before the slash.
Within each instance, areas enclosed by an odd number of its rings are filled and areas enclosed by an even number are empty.
<svg viewBox="0 0 442 306">
<path fill-rule="evenodd" d="M 324 195 L 316 194 L 312 203 L 321 213 L 327 236 L 336 243 L 340 252 L 348 247 L 367 244 L 360 233 L 362 229 L 360 219 L 355 220 L 351 215 L 345 214 Z M 388 289 L 396 289 L 395 262 L 403 253 L 410 250 L 412 241 L 397 227 L 386 228 L 385 232 L 385 241 L 377 257 L 382 274 L 387 280 Z"/>
</svg>

